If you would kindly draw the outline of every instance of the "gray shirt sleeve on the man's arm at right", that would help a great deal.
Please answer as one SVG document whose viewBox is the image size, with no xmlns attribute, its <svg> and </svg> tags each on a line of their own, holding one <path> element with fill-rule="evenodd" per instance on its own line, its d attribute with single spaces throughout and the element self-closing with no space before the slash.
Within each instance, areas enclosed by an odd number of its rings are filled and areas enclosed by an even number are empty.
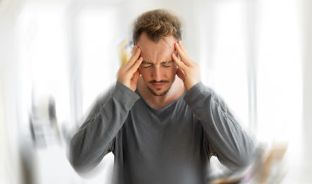
<svg viewBox="0 0 312 184">
<path fill-rule="evenodd" d="M 223 100 L 202 82 L 194 85 L 184 99 L 201 122 L 209 149 L 213 149 L 219 161 L 232 170 L 249 166 L 254 159 L 254 142 Z"/>
</svg>

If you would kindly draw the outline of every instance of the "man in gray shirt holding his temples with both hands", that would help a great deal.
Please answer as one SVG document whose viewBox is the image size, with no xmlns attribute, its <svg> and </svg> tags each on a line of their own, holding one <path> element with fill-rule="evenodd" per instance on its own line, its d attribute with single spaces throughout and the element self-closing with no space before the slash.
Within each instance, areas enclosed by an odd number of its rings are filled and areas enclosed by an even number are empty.
<svg viewBox="0 0 312 184">
<path fill-rule="evenodd" d="M 168 11 L 137 19 L 131 58 L 70 143 L 76 171 L 113 152 L 115 183 L 195 184 L 205 182 L 212 155 L 231 169 L 250 163 L 253 142 L 202 84 L 180 39 L 180 21 Z"/>
</svg>

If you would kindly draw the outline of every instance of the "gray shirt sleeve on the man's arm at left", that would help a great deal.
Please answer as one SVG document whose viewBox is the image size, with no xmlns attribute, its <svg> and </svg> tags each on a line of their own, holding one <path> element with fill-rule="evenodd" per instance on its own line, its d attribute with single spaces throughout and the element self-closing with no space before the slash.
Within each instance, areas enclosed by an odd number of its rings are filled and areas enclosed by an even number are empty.
<svg viewBox="0 0 312 184">
<path fill-rule="evenodd" d="M 94 168 L 113 151 L 114 137 L 122 128 L 139 95 L 120 82 L 104 94 L 70 141 L 70 164 L 77 172 Z"/>
</svg>

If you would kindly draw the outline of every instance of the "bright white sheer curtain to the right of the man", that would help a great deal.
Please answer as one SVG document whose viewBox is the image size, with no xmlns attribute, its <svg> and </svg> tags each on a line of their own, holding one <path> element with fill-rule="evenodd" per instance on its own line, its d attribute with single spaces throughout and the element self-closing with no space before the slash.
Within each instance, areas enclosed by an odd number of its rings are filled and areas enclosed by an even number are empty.
<svg viewBox="0 0 312 184">
<path fill-rule="evenodd" d="M 301 2 L 211 1 L 210 6 L 207 84 L 258 142 L 288 145 L 285 182 L 297 180 L 307 150 L 301 137 Z"/>
</svg>

